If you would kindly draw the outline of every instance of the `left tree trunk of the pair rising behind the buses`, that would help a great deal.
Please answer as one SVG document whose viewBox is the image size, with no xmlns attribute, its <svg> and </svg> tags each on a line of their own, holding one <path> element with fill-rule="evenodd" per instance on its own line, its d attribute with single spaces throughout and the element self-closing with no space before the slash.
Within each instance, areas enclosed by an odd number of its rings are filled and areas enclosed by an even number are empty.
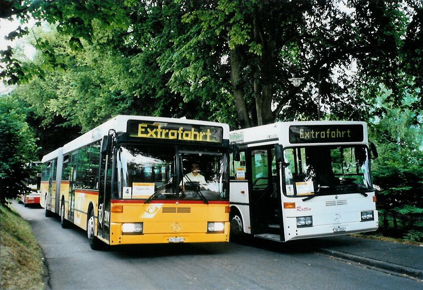
<svg viewBox="0 0 423 290">
<path fill-rule="evenodd" d="M 238 114 L 239 122 L 242 128 L 251 127 L 250 116 L 248 115 L 247 104 L 244 100 L 244 87 L 242 86 L 241 76 L 239 73 L 241 58 L 239 51 L 235 49 L 230 50 L 230 64 L 231 64 L 231 81 L 234 93 L 235 107 Z"/>
</svg>

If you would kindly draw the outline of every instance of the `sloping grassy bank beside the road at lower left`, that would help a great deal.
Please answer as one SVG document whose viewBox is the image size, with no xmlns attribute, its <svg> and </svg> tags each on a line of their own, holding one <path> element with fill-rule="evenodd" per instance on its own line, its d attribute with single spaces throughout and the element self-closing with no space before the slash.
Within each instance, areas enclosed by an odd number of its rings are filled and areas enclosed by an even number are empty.
<svg viewBox="0 0 423 290">
<path fill-rule="evenodd" d="M 0 205 L 1 289 L 44 289 L 41 250 L 29 224 Z"/>
</svg>

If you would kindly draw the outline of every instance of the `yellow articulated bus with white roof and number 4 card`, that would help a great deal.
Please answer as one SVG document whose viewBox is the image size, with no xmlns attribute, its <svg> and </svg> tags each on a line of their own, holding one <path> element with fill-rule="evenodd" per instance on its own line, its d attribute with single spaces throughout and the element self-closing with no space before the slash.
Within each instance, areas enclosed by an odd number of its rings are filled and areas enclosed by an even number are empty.
<svg viewBox="0 0 423 290">
<path fill-rule="evenodd" d="M 229 126 L 117 116 L 43 157 L 41 205 L 90 245 L 229 241 Z"/>
</svg>

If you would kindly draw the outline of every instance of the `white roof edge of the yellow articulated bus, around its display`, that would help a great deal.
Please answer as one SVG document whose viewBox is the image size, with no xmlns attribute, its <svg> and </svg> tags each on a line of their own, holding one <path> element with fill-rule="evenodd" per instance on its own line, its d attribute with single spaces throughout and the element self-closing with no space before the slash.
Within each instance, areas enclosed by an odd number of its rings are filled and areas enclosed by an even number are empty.
<svg viewBox="0 0 423 290">
<path fill-rule="evenodd" d="M 180 124 L 195 124 L 195 125 L 205 125 L 205 126 L 219 126 L 223 128 L 223 139 L 229 139 L 229 125 L 218 122 L 210 121 L 198 121 L 198 120 L 189 120 L 189 119 L 175 119 L 175 118 L 162 118 L 162 117 L 148 117 L 148 116 L 130 116 L 130 115 L 118 115 L 109 121 L 98 125 L 94 129 L 84 133 L 78 138 L 72 140 L 68 144 L 65 144 L 62 148 L 58 148 L 47 155 L 42 159 L 42 162 L 46 162 L 56 158 L 59 154 L 69 153 L 77 148 L 85 146 L 87 144 L 93 143 L 95 141 L 101 140 L 103 136 L 109 133 L 110 129 L 114 129 L 116 132 L 126 132 L 127 122 L 129 120 L 140 120 L 140 121 L 151 121 L 151 122 L 164 122 L 164 123 L 180 123 Z M 59 149 L 62 149 L 62 152 L 59 153 Z"/>
</svg>

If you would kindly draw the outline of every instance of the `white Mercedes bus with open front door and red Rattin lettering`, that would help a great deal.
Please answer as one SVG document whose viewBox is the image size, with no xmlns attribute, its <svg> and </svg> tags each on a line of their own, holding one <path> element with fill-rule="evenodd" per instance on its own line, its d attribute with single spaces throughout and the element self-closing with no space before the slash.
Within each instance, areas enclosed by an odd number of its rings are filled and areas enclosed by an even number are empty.
<svg viewBox="0 0 423 290">
<path fill-rule="evenodd" d="M 286 242 L 375 231 L 367 125 L 279 122 L 232 131 L 231 235 Z"/>
</svg>

